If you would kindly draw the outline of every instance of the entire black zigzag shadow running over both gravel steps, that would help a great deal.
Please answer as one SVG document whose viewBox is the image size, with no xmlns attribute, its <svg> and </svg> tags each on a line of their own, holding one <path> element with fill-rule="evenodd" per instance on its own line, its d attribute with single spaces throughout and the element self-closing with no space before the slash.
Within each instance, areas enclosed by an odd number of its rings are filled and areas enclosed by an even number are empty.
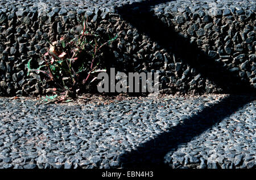
<svg viewBox="0 0 256 180">
<path fill-rule="evenodd" d="M 145 33 L 162 48 L 170 49 L 171 47 L 171 53 L 174 53 L 177 59 L 196 68 L 203 78 L 214 82 L 225 93 L 255 92 L 255 89 L 250 86 L 249 79 L 241 80 L 238 72 L 226 69 L 223 63 L 205 54 L 203 50 L 191 44 L 187 38 L 175 32 L 174 28 L 168 27 L 155 16 L 154 12 L 150 11 L 152 6 L 164 2 L 169 1 L 135 2 L 131 5 L 117 7 L 116 10 L 122 19 L 137 28 L 140 33 Z M 168 132 L 141 144 L 137 150 L 124 153 L 119 157 L 119 161 L 123 168 L 166 167 L 163 162 L 164 156 L 171 148 L 190 142 L 193 137 L 221 122 L 222 119 L 253 100 L 255 97 L 226 97 L 218 104 L 205 108 L 198 115 L 185 119 L 182 124 L 170 128 Z"/>
</svg>

